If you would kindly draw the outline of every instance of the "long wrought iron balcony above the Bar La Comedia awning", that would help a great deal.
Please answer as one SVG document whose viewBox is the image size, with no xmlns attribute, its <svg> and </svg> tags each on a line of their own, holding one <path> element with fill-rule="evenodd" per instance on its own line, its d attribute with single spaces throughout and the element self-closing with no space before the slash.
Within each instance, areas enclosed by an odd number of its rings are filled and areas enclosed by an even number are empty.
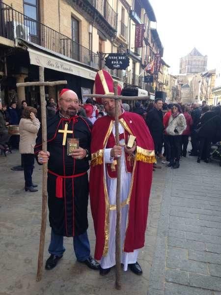
<svg viewBox="0 0 221 295">
<path fill-rule="evenodd" d="M 21 38 L 99 69 L 98 54 L 2 2 L 0 3 L 0 36 L 10 40 Z"/>
</svg>

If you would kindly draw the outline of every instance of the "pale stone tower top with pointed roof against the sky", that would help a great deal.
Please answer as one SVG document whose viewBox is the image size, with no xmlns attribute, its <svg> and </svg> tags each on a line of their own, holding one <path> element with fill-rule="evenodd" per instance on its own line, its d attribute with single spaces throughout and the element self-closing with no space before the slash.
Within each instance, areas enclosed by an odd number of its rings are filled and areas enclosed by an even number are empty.
<svg viewBox="0 0 221 295">
<path fill-rule="evenodd" d="M 180 74 L 188 75 L 206 71 L 207 56 L 203 56 L 195 47 L 180 59 Z"/>
</svg>

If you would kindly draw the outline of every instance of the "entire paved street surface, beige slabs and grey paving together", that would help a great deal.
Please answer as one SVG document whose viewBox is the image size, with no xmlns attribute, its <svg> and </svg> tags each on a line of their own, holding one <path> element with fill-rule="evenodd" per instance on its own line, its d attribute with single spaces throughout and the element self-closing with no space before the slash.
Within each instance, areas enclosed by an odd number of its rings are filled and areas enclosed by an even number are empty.
<svg viewBox="0 0 221 295">
<path fill-rule="evenodd" d="M 0 295 L 218 295 L 221 294 L 221 169 L 218 163 L 184 158 L 180 169 L 162 164 L 154 172 L 145 247 L 139 252 L 142 276 L 122 271 L 122 290 L 114 289 L 114 271 L 101 277 L 76 262 L 72 239 L 51 271 L 35 281 L 41 218 L 41 185 L 24 191 L 23 172 L 13 151 L 0 156 Z M 33 179 L 41 183 L 35 164 Z M 95 236 L 89 215 L 89 239 Z M 47 224 L 44 263 L 48 257 Z M 202 289 L 201 289 L 202 288 Z"/>
</svg>

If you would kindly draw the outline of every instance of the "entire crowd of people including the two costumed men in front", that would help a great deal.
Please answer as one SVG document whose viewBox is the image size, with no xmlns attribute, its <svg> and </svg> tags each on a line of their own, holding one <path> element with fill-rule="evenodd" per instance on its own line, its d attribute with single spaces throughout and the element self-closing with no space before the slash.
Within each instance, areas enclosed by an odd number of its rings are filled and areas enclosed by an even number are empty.
<svg viewBox="0 0 221 295">
<path fill-rule="evenodd" d="M 113 93 L 111 75 L 98 71 L 95 88 L 97 94 Z M 197 156 L 198 163 L 201 159 L 208 163 L 211 143 L 221 140 L 221 107 L 166 104 L 161 98 L 145 107 L 136 102 L 131 108 L 123 102 L 118 109 L 117 144 L 114 99 L 102 98 L 97 104 L 89 98 L 81 105 L 73 90 L 62 89 L 57 104 L 54 99 L 47 104 L 47 151 L 42 150 L 38 111 L 39 107 L 29 107 L 26 101 L 20 111 L 15 103 L 7 110 L 0 104 L 0 135 L 4 147 L 10 142 L 6 138 L 7 125 L 19 124 L 26 191 L 37 191 L 37 184 L 32 181 L 34 158 L 39 165 L 48 163 L 51 241 L 45 268 L 51 270 L 57 265 L 65 252 L 63 237 L 68 236 L 73 237 L 79 262 L 99 269 L 101 275 L 111 271 L 115 265 L 116 187 L 120 167 L 121 263 L 125 271 L 129 268 L 137 275 L 142 274 L 137 260 L 139 249 L 144 246 L 152 173 L 161 168 L 156 157 L 167 167 L 179 168 L 181 157 L 187 156 L 191 137 L 190 155 Z M 96 235 L 95 258 L 90 254 L 87 236 L 88 195 Z"/>
</svg>

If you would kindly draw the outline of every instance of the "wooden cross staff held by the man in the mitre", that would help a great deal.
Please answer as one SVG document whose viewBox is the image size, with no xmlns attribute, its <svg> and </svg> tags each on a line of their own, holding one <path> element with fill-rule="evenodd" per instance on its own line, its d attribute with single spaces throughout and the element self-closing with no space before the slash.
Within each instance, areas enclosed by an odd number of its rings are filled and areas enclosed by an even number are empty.
<svg viewBox="0 0 221 295">
<path fill-rule="evenodd" d="M 115 100 L 115 138 L 116 145 L 120 145 L 119 140 L 119 103 L 120 100 L 146 100 L 148 96 L 121 96 L 117 95 L 117 82 L 113 82 L 114 95 L 108 94 L 83 94 L 83 97 L 99 97 L 99 98 L 113 98 Z M 115 288 L 117 290 L 121 289 L 120 284 L 120 264 L 121 264 L 121 245 L 120 245 L 120 158 L 117 158 L 117 187 L 116 187 L 116 237 L 115 237 Z"/>
</svg>

